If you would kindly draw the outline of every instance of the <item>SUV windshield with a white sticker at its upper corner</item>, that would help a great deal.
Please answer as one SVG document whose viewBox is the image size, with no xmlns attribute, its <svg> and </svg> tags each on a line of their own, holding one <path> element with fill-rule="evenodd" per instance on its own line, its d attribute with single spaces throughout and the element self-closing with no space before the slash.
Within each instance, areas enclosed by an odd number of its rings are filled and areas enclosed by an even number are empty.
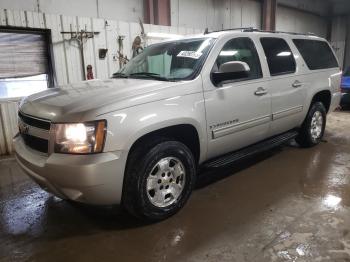
<svg viewBox="0 0 350 262">
<path fill-rule="evenodd" d="M 212 44 L 212 38 L 193 38 L 151 45 L 113 77 L 164 81 L 193 79 Z"/>
</svg>

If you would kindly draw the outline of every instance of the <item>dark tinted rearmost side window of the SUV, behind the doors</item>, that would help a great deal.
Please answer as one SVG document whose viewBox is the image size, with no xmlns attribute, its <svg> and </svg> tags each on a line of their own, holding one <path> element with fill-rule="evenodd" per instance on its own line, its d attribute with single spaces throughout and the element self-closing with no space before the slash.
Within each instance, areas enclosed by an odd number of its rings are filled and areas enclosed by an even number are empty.
<svg viewBox="0 0 350 262">
<path fill-rule="evenodd" d="M 338 67 L 337 59 L 324 41 L 294 39 L 295 46 L 310 70 Z"/>
</svg>

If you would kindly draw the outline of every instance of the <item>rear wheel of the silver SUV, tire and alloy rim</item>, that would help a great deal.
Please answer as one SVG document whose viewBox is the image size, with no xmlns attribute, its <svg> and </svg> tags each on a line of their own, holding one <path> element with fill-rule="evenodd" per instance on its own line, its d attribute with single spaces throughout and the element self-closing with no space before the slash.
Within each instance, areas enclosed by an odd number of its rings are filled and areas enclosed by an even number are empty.
<svg viewBox="0 0 350 262">
<path fill-rule="evenodd" d="M 312 147 L 320 143 L 326 128 L 327 113 L 321 102 L 315 102 L 295 139 L 301 147 Z M 321 122 L 320 122 L 321 121 Z"/>
</svg>

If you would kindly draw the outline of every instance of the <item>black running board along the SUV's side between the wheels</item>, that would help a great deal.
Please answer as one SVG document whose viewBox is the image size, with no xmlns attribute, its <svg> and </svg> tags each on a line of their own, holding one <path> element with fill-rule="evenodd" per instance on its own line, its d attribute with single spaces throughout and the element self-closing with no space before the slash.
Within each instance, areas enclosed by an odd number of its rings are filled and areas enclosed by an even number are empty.
<svg viewBox="0 0 350 262">
<path fill-rule="evenodd" d="M 232 164 L 236 161 L 239 161 L 243 158 L 252 156 L 254 154 L 267 151 L 269 149 L 272 149 L 276 146 L 282 145 L 289 140 L 295 138 L 298 135 L 297 131 L 289 131 L 287 133 L 283 133 L 278 136 L 274 136 L 272 138 L 269 138 L 267 140 L 264 140 L 262 142 L 258 142 L 256 144 L 253 144 L 251 146 L 245 147 L 243 149 L 240 149 L 238 151 L 234 151 L 232 153 L 228 153 L 226 155 L 220 156 L 218 158 L 214 158 L 212 160 L 209 160 L 205 162 L 202 167 L 203 168 L 218 168 L 222 167 L 228 164 Z"/>
</svg>

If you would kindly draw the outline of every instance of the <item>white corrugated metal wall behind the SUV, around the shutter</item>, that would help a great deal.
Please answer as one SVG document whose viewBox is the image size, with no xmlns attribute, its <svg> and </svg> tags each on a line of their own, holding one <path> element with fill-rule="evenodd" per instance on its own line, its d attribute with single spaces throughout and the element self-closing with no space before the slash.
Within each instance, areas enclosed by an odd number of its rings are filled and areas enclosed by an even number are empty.
<svg viewBox="0 0 350 262">
<path fill-rule="evenodd" d="M 95 78 L 105 79 L 119 69 L 116 59 L 120 35 L 125 36 L 124 54 L 131 57 L 132 41 L 140 35 L 141 29 L 138 23 L 105 20 L 89 17 L 76 17 L 64 15 L 52 15 L 30 11 L 17 11 L 0 9 L 0 25 L 17 26 L 24 28 L 51 29 L 54 67 L 58 85 L 79 82 L 82 80 L 82 65 L 77 43 L 70 41 L 69 35 L 62 35 L 62 31 L 91 30 L 100 32 L 92 39 L 88 39 L 84 45 L 85 64 L 91 64 Z M 147 32 L 161 32 L 172 34 L 196 34 L 204 29 L 193 29 L 177 26 L 159 26 L 145 24 Z M 159 40 L 158 40 L 159 41 Z M 156 40 L 148 40 L 148 44 Z M 98 49 L 107 48 L 105 59 L 99 59 Z M 18 102 L 0 102 L 0 154 L 12 153 L 11 140 L 17 132 L 17 106 Z"/>
</svg>

